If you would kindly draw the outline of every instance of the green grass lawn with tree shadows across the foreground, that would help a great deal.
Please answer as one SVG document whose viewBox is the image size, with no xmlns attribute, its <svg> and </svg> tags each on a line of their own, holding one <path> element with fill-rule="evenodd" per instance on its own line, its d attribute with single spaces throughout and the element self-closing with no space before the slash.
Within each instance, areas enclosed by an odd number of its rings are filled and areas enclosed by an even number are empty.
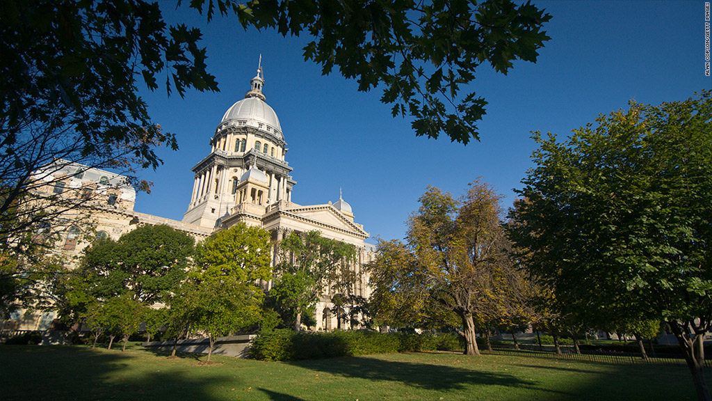
<svg viewBox="0 0 712 401">
<path fill-rule="evenodd" d="M 0 345 L 0 400 L 696 399 L 686 367 L 427 352 L 299 362 L 213 355 L 217 364 L 201 365 L 205 357 Z"/>
</svg>

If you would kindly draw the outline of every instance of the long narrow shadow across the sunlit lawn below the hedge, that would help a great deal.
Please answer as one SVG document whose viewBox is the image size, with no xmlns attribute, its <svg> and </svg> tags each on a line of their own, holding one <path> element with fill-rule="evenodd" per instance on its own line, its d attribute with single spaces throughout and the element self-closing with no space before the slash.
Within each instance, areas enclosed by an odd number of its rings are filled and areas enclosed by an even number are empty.
<svg viewBox="0 0 712 401">
<path fill-rule="evenodd" d="M 291 364 L 343 377 L 400 382 L 425 390 L 464 390 L 472 385 L 536 388 L 535 383 L 521 380 L 515 375 L 451 365 L 392 361 L 373 357 L 307 360 L 291 362 Z"/>
</svg>

